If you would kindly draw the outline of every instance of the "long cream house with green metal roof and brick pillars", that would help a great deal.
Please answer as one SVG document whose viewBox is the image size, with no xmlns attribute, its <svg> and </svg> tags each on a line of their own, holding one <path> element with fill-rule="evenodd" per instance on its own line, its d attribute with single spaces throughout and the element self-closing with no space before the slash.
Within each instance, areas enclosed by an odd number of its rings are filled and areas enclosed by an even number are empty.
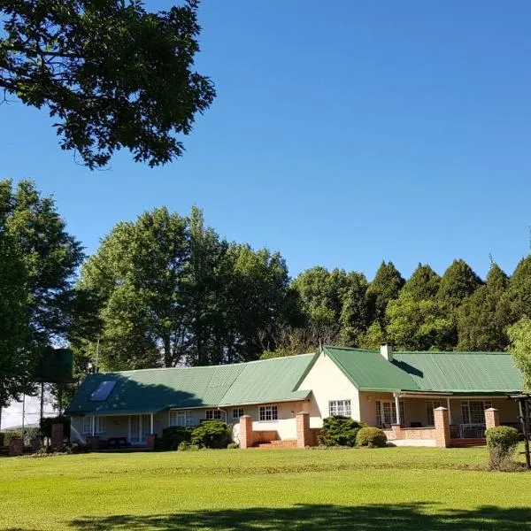
<svg viewBox="0 0 531 531">
<path fill-rule="evenodd" d="M 435 446 L 441 412 L 453 440 L 481 439 L 492 408 L 496 422 L 516 425 L 516 406 L 505 396 L 522 387 L 504 352 L 324 346 L 315 354 L 227 366 L 92 374 L 67 413 L 81 440 L 121 437 L 141 446 L 165 427 L 206 419 L 237 425 L 243 447 L 302 445 L 304 436 L 306 445 L 331 415 L 382 427 L 396 445 Z"/>
</svg>

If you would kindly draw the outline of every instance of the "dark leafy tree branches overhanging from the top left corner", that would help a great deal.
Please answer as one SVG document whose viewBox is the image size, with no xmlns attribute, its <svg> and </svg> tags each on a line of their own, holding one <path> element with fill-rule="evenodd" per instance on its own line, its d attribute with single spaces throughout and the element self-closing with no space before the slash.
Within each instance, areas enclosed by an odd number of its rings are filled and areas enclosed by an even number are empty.
<svg viewBox="0 0 531 531">
<path fill-rule="evenodd" d="M 122 148 L 165 164 L 182 154 L 175 135 L 188 135 L 215 96 L 192 70 L 197 6 L 152 13 L 140 0 L 5 0 L 0 89 L 46 106 L 61 148 L 91 169 Z"/>
</svg>

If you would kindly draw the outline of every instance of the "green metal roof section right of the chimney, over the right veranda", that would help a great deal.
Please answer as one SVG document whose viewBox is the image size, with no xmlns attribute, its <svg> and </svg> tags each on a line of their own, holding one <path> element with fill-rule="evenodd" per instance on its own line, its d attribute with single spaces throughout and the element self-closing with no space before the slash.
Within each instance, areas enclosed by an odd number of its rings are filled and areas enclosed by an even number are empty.
<svg viewBox="0 0 531 531">
<path fill-rule="evenodd" d="M 514 393 L 523 379 L 506 352 L 393 352 L 393 365 L 423 391 Z"/>
</svg>

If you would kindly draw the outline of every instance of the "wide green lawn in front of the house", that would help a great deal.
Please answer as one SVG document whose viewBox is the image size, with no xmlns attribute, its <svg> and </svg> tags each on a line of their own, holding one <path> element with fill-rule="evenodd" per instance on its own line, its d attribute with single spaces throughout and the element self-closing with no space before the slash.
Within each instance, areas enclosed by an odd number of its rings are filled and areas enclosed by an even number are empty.
<svg viewBox="0 0 531 531">
<path fill-rule="evenodd" d="M 486 458 L 485 448 L 1 458 L 0 528 L 531 529 L 531 473 L 481 471 Z"/>
</svg>

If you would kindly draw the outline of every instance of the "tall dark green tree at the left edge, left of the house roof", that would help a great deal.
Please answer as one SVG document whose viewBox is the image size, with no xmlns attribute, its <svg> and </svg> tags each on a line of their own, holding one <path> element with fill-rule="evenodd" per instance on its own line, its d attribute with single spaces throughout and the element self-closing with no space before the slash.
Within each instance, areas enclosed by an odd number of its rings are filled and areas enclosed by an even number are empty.
<svg viewBox="0 0 531 531">
<path fill-rule="evenodd" d="M 31 181 L 16 187 L 0 181 L 0 240 L 5 403 L 31 390 L 41 353 L 65 342 L 82 309 L 73 281 L 83 253 L 53 199 L 42 197 Z"/>
</svg>

